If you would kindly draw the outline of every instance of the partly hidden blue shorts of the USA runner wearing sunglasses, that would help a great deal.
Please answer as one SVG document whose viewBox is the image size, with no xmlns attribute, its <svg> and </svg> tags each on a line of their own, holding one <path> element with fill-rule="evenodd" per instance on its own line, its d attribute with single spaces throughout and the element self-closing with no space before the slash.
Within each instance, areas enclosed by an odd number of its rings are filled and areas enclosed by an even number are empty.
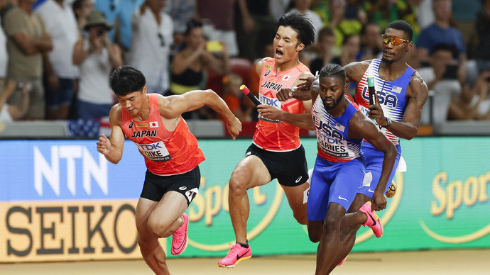
<svg viewBox="0 0 490 275">
<path fill-rule="evenodd" d="M 369 196 L 369 198 L 373 198 L 374 190 L 376 190 L 376 186 L 378 186 L 379 177 L 381 176 L 381 171 L 383 170 L 384 153 L 379 152 L 373 147 L 373 145 L 366 141 L 362 142 L 361 150 L 364 152 L 364 157 L 366 158 L 366 176 L 364 176 L 361 189 L 359 189 L 359 192 L 357 193 L 362 193 Z M 386 183 L 386 188 L 383 193 L 386 193 L 390 187 L 393 176 L 395 176 L 396 167 L 398 166 L 400 157 L 401 146 L 396 145 L 395 165 L 393 166 L 393 170 L 391 171 L 390 178 Z"/>
</svg>

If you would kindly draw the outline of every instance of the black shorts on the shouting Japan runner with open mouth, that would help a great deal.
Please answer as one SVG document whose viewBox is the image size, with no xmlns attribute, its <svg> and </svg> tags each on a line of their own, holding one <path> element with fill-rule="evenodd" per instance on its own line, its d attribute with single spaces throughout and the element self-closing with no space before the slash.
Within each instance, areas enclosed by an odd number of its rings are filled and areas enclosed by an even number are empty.
<svg viewBox="0 0 490 275">
<path fill-rule="evenodd" d="M 245 157 L 254 155 L 259 157 L 266 165 L 271 179 L 278 179 L 285 186 L 298 186 L 308 179 L 305 148 L 303 145 L 289 152 L 270 152 L 257 145 L 250 145 Z"/>
</svg>

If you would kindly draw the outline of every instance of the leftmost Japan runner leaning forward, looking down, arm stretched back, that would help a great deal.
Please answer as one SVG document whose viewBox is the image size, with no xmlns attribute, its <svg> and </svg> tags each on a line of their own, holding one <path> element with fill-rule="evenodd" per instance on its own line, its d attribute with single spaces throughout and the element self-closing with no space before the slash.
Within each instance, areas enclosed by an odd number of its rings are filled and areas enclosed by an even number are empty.
<svg viewBox="0 0 490 275">
<path fill-rule="evenodd" d="M 114 70 L 111 89 L 119 103 L 109 113 L 110 140 L 102 135 L 97 150 L 109 162 L 118 163 L 126 135 L 145 157 L 148 170 L 136 206 L 138 245 L 155 274 L 170 274 L 158 238 L 172 235 L 172 254 L 184 252 L 189 223 L 184 212 L 198 192 L 198 164 L 205 160 L 181 115 L 207 105 L 224 116 L 232 138 L 240 133 L 241 123 L 212 90 L 178 96 L 146 94 L 145 77 L 134 67 Z"/>
</svg>

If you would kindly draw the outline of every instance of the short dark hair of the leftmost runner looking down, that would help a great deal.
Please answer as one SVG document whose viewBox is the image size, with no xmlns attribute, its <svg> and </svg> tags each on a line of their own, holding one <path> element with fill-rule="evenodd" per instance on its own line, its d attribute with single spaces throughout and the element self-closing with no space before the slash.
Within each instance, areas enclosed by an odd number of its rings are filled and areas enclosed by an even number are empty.
<svg viewBox="0 0 490 275">
<path fill-rule="evenodd" d="M 143 91 L 145 84 L 145 76 L 135 67 L 121 66 L 111 73 L 111 89 L 116 96 L 126 96 L 134 91 Z"/>
</svg>

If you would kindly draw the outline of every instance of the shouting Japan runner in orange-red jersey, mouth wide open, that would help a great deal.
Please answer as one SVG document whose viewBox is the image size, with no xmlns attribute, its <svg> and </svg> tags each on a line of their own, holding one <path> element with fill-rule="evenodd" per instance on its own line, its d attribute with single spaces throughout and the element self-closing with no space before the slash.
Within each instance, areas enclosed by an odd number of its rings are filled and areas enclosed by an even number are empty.
<svg viewBox="0 0 490 275">
<path fill-rule="evenodd" d="M 233 267 L 251 257 L 246 236 L 250 212 L 246 194 L 248 189 L 278 179 L 295 219 L 303 225 L 307 222 L 303 196 L 310 185 L 306 183 L 305 149 L 300 142 L 299 128 L 314 128 L 311 101 L 290 99 L 281 103 L 276 94 L 312 76 L 310 70 L 299 61 L 298 55 L 313 43 L 315 30 L 309 19 L 295 12 L 282 16 L 278 26 L 273 40 L 274 57 L 266 57 L 256 66 L 260 76 L 260 86 L 254 87 L 258 88 L 261 101 L 258 106 L 259 120 L 253 143 L 229 180 L 229 215 L 236 243 L 231 245 L 227 256 L 218 262 L 220 267 Z"/>
</svg>

